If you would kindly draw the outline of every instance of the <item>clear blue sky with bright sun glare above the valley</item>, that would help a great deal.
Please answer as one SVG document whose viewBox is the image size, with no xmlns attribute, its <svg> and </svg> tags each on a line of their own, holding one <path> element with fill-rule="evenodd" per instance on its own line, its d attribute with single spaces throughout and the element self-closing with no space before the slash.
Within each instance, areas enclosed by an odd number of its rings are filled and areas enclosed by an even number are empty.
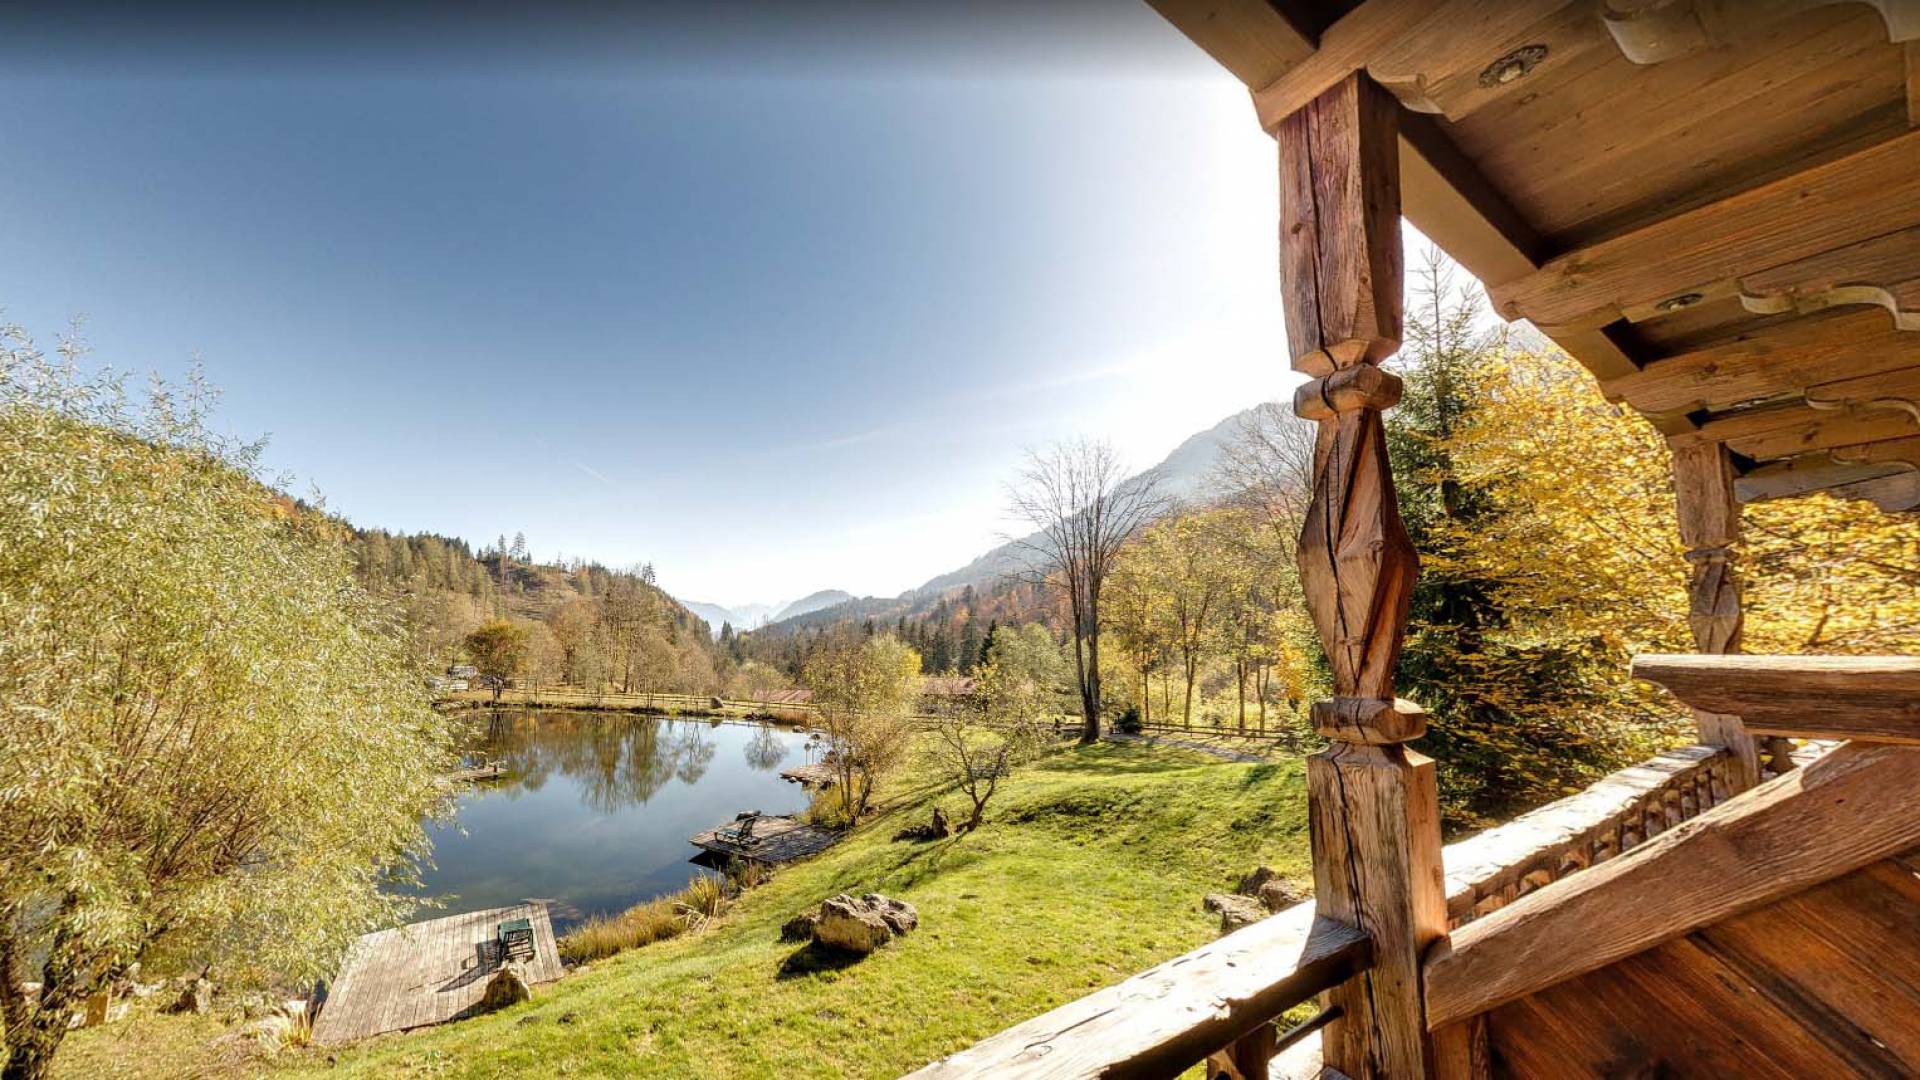
<svg viewBox="0 0 1920 1080">
<path fill-rule="evenodd" d="M 0 19 L 0 307 L 198 356 L 355 523 L 722 603 L 900 592 L 1023 446 L 1294 382 L 1273 142 L 1144 4 L 728 10 Z"/>
</svg>

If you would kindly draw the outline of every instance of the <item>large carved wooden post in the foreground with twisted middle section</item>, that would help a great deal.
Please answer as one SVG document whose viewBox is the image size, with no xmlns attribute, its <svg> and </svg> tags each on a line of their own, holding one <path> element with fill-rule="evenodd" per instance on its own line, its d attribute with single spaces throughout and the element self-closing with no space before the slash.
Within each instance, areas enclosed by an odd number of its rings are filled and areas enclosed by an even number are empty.
<svg viewBox="0 0 1920 1080">
<path fill-rule="evenodd" d="M 1313 705 L 1332 746 L 1308 759 L 1319 913 L 1373 936 L 1375 967 L 1329 994 L 1325 1065 L 1359 1078 L 1430 1076 L 1421 953 L 1446 934 L 1434 765 L 1405 742 L 1425 713 L 1394 698 L 1419 559 L 1400 521 L 1380 411 L 1400 379 L 1398 106 L 1352 75 L 1281 121 L 1281 286 L 1294 411 L 1319 423 L 1300 578 L 1332 665 Z"/>
</svg>

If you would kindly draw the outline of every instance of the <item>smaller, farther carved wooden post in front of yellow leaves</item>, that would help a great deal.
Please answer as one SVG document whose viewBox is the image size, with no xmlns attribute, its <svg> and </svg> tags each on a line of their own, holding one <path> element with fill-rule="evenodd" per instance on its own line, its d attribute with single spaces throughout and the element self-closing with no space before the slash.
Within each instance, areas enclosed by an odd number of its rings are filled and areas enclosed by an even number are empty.
<svg viewBox="0 0 1920 1080">
<path fill-rule="evenodd" d="M 1693 628 L 1693 648 L 1703 653 L 1738 653 L 1745 621 L 1740 609 L 1740 577 L 1734 573 L 1740 500 L 1734 496 L 1734 461 L 1726 444 L 1674 448 L 1674 502 L 1680 511 L 1680 542 L 1686 544 L 1686 561 L 1692 565 L 1688 625 Z M 1728 771 L 1734 792 L 1761 782 L 1759 740 L 1740 717 L 1693 709 L 1693 724 L 1699 728 L 1699 742 L 1724 746 L 1734 753 L 1734 767 Z"/>
</svg>

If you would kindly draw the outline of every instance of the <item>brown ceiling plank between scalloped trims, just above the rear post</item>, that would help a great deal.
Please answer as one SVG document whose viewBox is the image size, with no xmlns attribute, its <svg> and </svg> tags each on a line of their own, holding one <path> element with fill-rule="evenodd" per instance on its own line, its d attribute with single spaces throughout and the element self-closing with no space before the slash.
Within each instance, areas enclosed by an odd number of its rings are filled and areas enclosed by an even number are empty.
<svg viewBox="0 0 1920 1080">
<path fill-rule="evenodd" d="M 1728 411 L 1776 398 L 1859 394 L 1862 377 L 1920 367 L 1920 334 L 1887 329 L 1880 311 L 1837 309 L 1774 323 L 1601 382 L 1644 413 Z M 1822 398 L 1826 402 L 1826 398 Z"/>
</svg>

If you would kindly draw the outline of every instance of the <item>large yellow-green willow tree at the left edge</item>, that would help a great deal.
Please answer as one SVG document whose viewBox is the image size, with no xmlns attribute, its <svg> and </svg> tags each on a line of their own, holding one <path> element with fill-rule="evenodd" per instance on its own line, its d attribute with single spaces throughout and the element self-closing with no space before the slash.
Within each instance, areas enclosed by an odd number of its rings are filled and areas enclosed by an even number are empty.
<svg viewBox="0 0 1920 1080">
<path fill-rule="evenodd" d="M 384 886 L 447 763 L 338 527 L 259 484 L 198 386 L 134 407 L 67 359 L 0 329 L 8 1080 L 134 963 L 328 972 L 403 915 Z"/>
</svg>

